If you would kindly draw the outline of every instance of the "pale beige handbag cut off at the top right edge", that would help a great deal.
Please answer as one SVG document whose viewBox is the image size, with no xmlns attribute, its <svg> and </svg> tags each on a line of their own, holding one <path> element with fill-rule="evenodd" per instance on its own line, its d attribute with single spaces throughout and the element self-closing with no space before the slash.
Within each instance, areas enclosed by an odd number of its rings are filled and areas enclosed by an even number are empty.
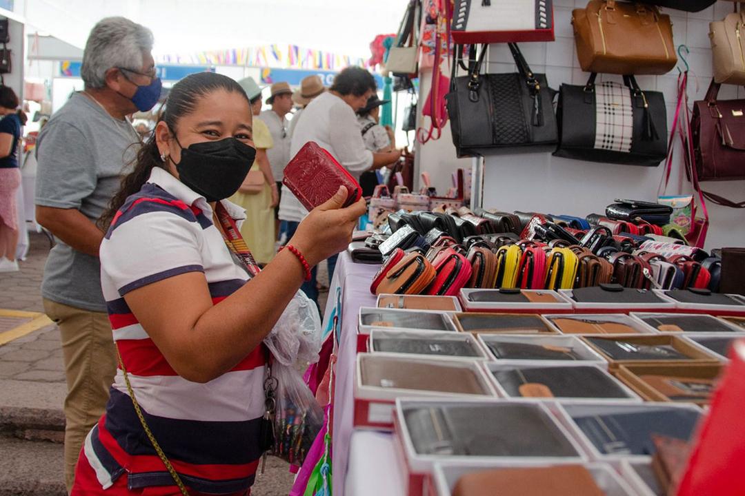
<svg viewBox="0 0 745 496">
<path fill-rule="evenodd" d="M 717 83 L 745 85 L 745 11 L 709 23 Z"/>
</svg>

